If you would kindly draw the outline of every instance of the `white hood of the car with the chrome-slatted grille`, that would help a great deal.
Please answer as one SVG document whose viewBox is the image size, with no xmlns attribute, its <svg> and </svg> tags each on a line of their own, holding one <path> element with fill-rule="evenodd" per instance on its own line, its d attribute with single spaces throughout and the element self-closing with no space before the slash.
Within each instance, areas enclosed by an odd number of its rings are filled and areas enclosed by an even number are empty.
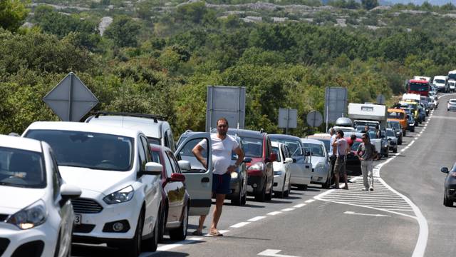
<svg viewBox="0 0 456 257">
<path fill-rule="evenodd" d="M 133 182 L 133 171 L 103 171 L 90 168 L 58 166 L 63 180 L 82 190 L 108 194 L 117 191 L 128 181 Z"/>
</svg>

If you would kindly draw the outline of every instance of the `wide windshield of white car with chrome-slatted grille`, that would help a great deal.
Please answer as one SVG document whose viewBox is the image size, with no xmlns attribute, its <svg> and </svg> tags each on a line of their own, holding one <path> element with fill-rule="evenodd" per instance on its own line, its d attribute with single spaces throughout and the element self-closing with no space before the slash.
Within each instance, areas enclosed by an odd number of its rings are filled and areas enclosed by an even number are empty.
<svg viewBox="0 0 456 257">
<path fill-rule="evenodd" d="M 133 138 L 127 136 L 37 129 L 26 137 L 51 145 L 59 166 L 130 171 L 133 165 Z"/>
</svg>

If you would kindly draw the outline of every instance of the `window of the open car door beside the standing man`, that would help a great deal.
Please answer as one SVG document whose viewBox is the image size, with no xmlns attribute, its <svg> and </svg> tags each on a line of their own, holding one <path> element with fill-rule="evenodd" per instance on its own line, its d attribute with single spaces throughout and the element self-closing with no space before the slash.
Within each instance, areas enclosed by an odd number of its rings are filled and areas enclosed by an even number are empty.
<svg viewBox="0 0 456 257">
<path fill-rule="evenodd" d="M 183 173 L 205 173 L 206 168 L 202 166 L 202 163 L 198 161 L 195 155 L 192 153 L 192 149 L 197 145 L 199 142 L 204 142 L 205 149 L 202 151 L 203 158 L 207 161 L 207 156 L 209 153 L 209 147 L 211 147 L 210 143 L 207 141 L 206 138 L 195 138 L 185 143 L 185 146 L 179 152 L 177 159 L 190 161 L 190 166 L 192 167 L 190 171 L 182 171 Z"/>
</svg>

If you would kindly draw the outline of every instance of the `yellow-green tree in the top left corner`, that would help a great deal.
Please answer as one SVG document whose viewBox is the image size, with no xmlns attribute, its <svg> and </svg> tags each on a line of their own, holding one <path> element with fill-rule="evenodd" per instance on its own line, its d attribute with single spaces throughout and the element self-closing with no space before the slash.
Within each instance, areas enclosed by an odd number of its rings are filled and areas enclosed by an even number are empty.
<svg viewBox="0 0 456 257">
<path fill-rule="evenodd" d="M 28 14 L 26 2 L 21 0 L 0 1 L 0 27 L 9 31 L 17 31 L 24 23 Z"/>
</svg>

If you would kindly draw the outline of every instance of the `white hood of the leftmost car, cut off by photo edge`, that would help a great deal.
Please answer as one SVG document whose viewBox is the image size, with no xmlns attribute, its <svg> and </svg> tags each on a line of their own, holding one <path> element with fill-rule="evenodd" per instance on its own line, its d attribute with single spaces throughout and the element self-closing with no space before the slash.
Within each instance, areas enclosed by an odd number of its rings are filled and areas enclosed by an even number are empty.
<svg viewBox="0 0 456 257">
<path fill-rule="evenodd" d="M 43 198 L 45 188 L 20 188 L 14 186 L 0 186 L 0 213 L 14 214 Z M 11 196 L 11 197 L 6 197 Z"/>
</svg>

